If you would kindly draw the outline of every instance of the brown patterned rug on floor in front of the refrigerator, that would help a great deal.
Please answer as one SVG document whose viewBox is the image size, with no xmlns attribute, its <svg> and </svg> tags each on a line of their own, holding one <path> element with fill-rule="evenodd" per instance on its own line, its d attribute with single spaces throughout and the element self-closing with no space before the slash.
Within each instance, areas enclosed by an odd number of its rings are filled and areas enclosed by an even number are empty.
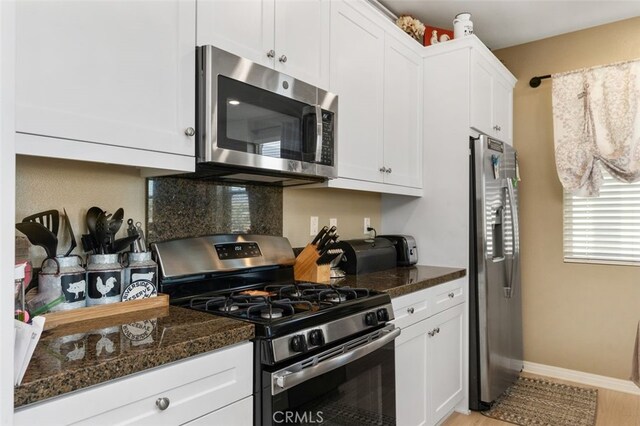
<svg viewBox="0 0 640 426">
<path fill-rule="evenodd" d="M 597 389 L 519 377 L 482 414 L 522 426 L 593 426 L 597 401 Z"/>
</svg>

